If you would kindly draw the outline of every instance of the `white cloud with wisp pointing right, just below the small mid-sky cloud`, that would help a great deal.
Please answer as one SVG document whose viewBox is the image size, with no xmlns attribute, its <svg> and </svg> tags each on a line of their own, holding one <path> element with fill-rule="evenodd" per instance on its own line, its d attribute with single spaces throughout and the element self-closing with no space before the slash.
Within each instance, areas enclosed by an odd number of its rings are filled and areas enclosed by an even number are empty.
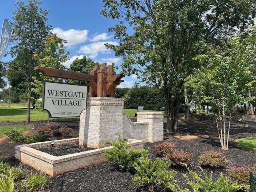
<svg viewBox="0 0 256 192">
<path fill-rule="evenodd" d="M 81 46 L 79 52 L 82 54 L 89 54 L 90 58 L 96 58 L 98 53 L 110 53 L 110 50 L 106 48 L 105 44 L 118 45 L 118 42 L 115 41 L 102 41 L 97 43 L 88 44 Z"/>
</svg>

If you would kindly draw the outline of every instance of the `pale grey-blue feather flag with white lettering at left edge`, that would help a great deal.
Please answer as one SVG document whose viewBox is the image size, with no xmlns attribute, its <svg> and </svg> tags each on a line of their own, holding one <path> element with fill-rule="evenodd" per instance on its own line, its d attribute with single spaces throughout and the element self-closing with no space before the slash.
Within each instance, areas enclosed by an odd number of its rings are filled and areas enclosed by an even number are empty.
<svg viewBox="0 0 256 192">
<path fill-rule="evenodd" d="M 11 27 L 7 19 L 4 19 L 0 40 L 0 60 L 4 56 L 11 37 Z"/>
</svg>

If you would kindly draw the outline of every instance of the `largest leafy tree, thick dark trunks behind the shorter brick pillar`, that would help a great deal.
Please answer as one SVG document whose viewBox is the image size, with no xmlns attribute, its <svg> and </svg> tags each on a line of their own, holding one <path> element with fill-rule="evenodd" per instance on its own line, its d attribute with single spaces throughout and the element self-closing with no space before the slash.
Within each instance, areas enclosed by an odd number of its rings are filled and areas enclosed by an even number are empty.
<svg viewBox="0 0 256 192">
<path fill-rule="evenodd" d="M 194 68 L 192 58 L 204 45 L 241 32 L 254 23 L 254 0 L 103 0 L 102 14 L 120 20 L 109 28 L 120 41 L 106 44 L 122 56 L 122 72 L 142 74 L 142 81 L 165 94 L 167 131 L 178 128 L 180 94 Z M 128 25 L 132 34 L 128 34 Z"/>
</svg>

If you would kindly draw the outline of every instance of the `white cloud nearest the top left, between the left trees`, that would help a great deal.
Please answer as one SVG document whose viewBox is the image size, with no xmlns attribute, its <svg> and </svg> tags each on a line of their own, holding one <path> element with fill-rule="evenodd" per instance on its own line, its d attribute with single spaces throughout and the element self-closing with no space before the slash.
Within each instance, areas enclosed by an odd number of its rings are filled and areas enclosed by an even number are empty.
<svg viewBox="0 0 256 192">
<path fill-rule="evenodd" d="M 62 30 L 61 28 L 54 28 L 52 33 L 56 33 L 60 38 L 67 40 L 64 46 L 73 46 L 76 44 L 84 43 L 88 37 L 88 30 Z"/>
</svg>

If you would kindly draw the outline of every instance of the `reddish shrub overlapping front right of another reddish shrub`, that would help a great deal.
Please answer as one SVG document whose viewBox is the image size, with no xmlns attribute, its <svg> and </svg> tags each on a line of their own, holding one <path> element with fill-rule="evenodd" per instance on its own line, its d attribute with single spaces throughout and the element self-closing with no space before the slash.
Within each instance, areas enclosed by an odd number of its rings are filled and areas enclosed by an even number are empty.
<svg viewBox="0 0 256 192">
<path fill-rule="evenodd" d="M 190 164 L 192 153 L 185 152 L 182 150 L 174 150 L 172 153 L 168 153 L 164 156 L 164 159 L 170 160 L 173 164 L 178 166 L 183 166 L 185 164 Z"/>
</svg>

